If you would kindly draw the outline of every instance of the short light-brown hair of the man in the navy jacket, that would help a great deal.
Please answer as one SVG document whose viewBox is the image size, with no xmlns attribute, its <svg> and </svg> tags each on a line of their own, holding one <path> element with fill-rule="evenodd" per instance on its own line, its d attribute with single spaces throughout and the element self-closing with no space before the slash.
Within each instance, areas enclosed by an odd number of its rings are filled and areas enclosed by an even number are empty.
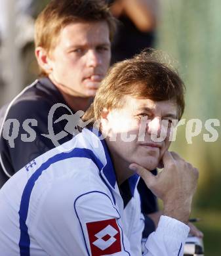
<svg viewBox="0 0 221 256">
<path fill-rule="evenodd" d="M 35 47 L 50 51 L 60 30 L 72 22 L 107 22 L 110 40 L 115 32 L 113 18 L 104 0 L 52 0 L 35 21 Z M 44 71 L 41 70 L 41 74 Z"/>
</svg>

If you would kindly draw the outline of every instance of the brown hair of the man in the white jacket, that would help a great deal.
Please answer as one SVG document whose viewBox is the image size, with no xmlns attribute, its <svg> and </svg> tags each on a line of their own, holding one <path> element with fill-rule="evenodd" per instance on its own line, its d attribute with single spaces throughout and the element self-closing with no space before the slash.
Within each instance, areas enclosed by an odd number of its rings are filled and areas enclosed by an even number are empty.
<svg viewBox="0 0 221 256">
<path fill-rule="evenodd" d="M 113 65 L 83 120 L 100 119 L 104 108 L 122 108 L 125 95 L 155 101 L 173 100 L 180 119 L 185 106 L 185 85 L 178 72 L 161 59 L 161 52 L 149 50 Z"/>
</svg>

